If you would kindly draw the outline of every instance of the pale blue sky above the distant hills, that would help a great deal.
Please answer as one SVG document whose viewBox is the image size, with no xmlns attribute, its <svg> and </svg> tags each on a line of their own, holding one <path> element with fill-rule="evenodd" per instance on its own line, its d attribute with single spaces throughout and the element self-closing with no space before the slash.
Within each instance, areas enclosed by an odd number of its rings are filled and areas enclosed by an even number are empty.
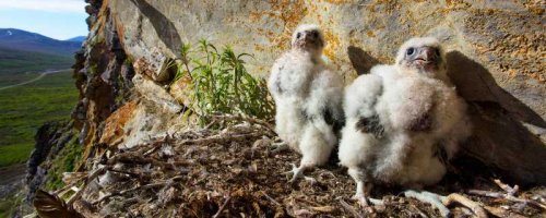
<svg viewBox="0 0 546 218">
<path fill-rule="evenodd" d="M 61 40 L 87 36 L 84 7 L 84 0 L 0 0 L 0 28 L 20 28 Z"/>
</svg>

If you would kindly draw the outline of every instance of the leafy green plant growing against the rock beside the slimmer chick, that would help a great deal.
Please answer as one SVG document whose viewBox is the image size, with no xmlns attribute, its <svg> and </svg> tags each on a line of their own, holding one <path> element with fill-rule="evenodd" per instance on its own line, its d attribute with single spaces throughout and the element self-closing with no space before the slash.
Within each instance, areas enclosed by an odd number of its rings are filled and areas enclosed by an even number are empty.
<svg viewBox="0 0 546 218">
<path fill-rule="evenodd" d="M 265 80 L 252 76 L 245 68 L 245 57 L 229 47 L 222 50 L 201 39 L 195 49 L 183 44 L 174 81 L 190 78 L 190 106 L 201 125 L 209 123 L 211 114 L 246 114 L 271 119 L 274 113 Z"/>
</svg>

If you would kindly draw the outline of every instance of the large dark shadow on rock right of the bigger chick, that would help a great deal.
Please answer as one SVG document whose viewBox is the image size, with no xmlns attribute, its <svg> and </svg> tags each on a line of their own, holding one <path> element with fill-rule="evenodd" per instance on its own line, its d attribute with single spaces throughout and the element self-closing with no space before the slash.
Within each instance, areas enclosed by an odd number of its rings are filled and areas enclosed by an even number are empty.
<svg viewBox="0 0 546 218">
<path fill-rule="evenodd" d="M 477 158 L 522 185 L 546 184 L 546 147 L 522 122 L 546 128 L 545 121 L 502 89 L 479 63 L 459 51 L 447 55 L 448 75 L 468 102 L 474 134 L 462 153 Z"/>
</svg>

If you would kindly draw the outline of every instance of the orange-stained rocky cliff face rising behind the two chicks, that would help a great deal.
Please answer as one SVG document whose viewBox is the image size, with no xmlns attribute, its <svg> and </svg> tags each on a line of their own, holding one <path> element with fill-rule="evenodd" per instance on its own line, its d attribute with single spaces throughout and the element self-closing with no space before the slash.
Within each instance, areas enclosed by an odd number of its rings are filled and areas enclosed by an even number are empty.
<svg viewBox="0 0 546 218">
<path fill-rule="evenodd" d="M 391 63 L 407 38 L 438 37 L 449 51 L 449 75 L 471 105 L 475 134 L 463 154 L 521 183 L 546 183 L 541 1 L 88 2 L 91 34 L 74 72 L 81 99 L 73 119 L 84 157 L 185 126 L 180 94 L 167 92 L 171 75 L 164 70 L 182 43 L 206 38 L 253 53 L 249 71 L 266 76 L 289 48 L 292 31 L 317 23 L 328 40 L 324 55 L 345 84 Z"/>
</svg>

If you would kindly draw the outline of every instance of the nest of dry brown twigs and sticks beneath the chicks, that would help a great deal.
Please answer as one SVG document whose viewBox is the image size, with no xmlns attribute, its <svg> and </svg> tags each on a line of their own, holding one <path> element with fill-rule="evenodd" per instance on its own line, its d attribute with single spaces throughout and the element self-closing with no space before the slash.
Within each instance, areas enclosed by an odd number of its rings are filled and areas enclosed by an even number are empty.
<svg viewBox="0 0 546 218">
<path fill-rule="evenodd" d="M 354 181 L 336 160 L 307 171 L 312 180 L 290 184 L 284 172 L 300 156 L 270 149 L 275 133 L 269 123 L 238 116 L 213 120 L 199 131 L 150 138 L 140 146 L 96 157 L 94 170 L 67 173 L 66 187 L 38 192 L 50 195 L 48 202 L 35 202 L 38 215 L 55 217 L 56 209 L 64 209 L 84 217 L 442 216 L 429 204 L 401 196 L 397 187 L 377 186 L 371 195 L 382 198 L 382 204 L 360 206 L 351 198 Z M 213 125 L 226 128 L 213 130 Z M 428 190 L 458 193 L 489 216 L 544 216 L 544 189 L 522 192 L 492 179 L 465 186 L 462 180 L 452 173 Z M 67 196 L 67 202 L 60 198 Z M 56 201 L 59 206 L 50 206 Z M 474 216 L 472 209 L 454 204 L 451 211 Z"/>
</svg>

